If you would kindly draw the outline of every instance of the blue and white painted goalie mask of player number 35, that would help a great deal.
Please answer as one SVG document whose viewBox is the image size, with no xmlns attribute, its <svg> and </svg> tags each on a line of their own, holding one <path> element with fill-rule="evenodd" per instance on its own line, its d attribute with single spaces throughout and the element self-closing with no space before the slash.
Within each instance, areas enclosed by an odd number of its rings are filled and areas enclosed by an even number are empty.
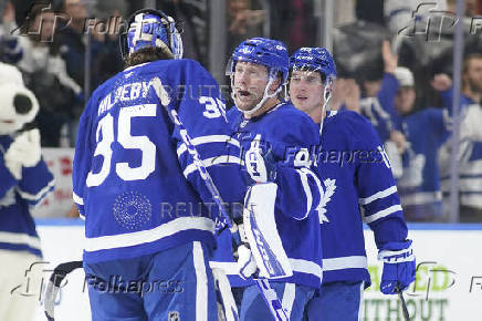
<svg viewBox="0 0 482 321">
<path fill-rule="evenodd" d="M 136 11 L 128 19 L 127 28 L 119 39 L 123 59 L 147 46 L 161 48 L 174 59 L 182 58 L 182 41 L 176 22 L 163 11 Z"/>
</svg>

